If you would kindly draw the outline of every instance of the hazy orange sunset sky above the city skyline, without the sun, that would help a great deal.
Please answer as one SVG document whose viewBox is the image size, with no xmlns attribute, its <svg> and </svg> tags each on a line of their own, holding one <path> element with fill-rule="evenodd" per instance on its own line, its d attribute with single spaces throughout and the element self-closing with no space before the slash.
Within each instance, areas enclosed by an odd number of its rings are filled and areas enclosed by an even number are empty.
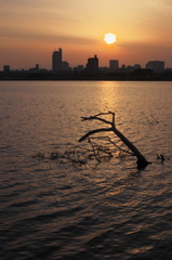
<svg viewBox="0 0 172 260">
<path fill-rule="evenodd" d="M 104 35 L 117 36 L 114 44 Z M 0 70 L 51 68 L 63 49 L 70 66 L 95 54 L 100 66 L 164 61 L 172 67 L 172 0 L 1 0 Z"/>
</svg>

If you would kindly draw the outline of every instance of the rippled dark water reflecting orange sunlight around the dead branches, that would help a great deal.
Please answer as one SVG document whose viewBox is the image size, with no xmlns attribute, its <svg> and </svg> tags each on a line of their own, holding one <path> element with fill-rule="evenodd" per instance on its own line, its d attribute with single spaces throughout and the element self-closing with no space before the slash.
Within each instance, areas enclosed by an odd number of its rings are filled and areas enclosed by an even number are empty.
<svg viewBox="0 0 172 260">
<path fill-rule="evenodd" d="M 171 102 L 172 82 L 1 81 L 0 258 L 171 260 Z M 104 126 L 80 117 L 107 110 L 151 165 L 48 158 Z"/>
</svg>

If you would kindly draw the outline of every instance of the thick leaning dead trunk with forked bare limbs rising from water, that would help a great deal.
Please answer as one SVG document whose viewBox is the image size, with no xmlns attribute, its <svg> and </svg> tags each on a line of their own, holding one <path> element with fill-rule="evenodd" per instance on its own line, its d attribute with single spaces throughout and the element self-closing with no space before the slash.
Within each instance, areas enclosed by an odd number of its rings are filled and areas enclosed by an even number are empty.
<svg viewBox="0 0 172 260">
<path fill-rule="evenodd" d="M 100 116 L 104 116 L 104 115 L 111 115 L 111 121 L 108 121 Z M 85 133 L 82 138 L 79 139 L 79 142 L 84 141 L 87 138 L 89 138 L 90 135 L 97 133 L 97 132 L 110 132 L 113 131 L 128 147 L 129 150 L 132 151 L 132 153 L 136 156 L 137 158 L 137 168 L 142 169 L 145 168 L 149 162 L 147 161 L 147 159 L 140 153 L 140 151 L 134 146 L 133 143 L 131 143 L 117 128 L 115 125 L 115 113 L 113 112 L 108 112 L 108 113 L 100 113 L 95 116 L 90 116 L 90 117 L 81 117 L 82 121 L 85 120 L 98 120 L 102 122 L 105 122 L 107 125 L 109 125 L 109 128 L 100 128 L 100 129 L 95 129 L 92 131 L 89 131 L 88 133 Z"/>
</svg>

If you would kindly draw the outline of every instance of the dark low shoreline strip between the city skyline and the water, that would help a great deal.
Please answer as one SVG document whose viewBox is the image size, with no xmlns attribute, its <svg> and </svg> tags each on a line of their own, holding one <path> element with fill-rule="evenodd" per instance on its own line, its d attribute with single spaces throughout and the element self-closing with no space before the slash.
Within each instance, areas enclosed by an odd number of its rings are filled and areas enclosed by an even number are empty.
<svg viewBox="0 0 172 260">
<path fill-rule="evenodd" d="M 50 70 L 40 72 L 0 72 L 0 81 L 8 80 L 42 80 L 42 81 L 172 81 L 172 72 L 163 70 L 155 73 L 151 69 L 136 69 L 132 73 L 54 73 Z"/>
</svg>

